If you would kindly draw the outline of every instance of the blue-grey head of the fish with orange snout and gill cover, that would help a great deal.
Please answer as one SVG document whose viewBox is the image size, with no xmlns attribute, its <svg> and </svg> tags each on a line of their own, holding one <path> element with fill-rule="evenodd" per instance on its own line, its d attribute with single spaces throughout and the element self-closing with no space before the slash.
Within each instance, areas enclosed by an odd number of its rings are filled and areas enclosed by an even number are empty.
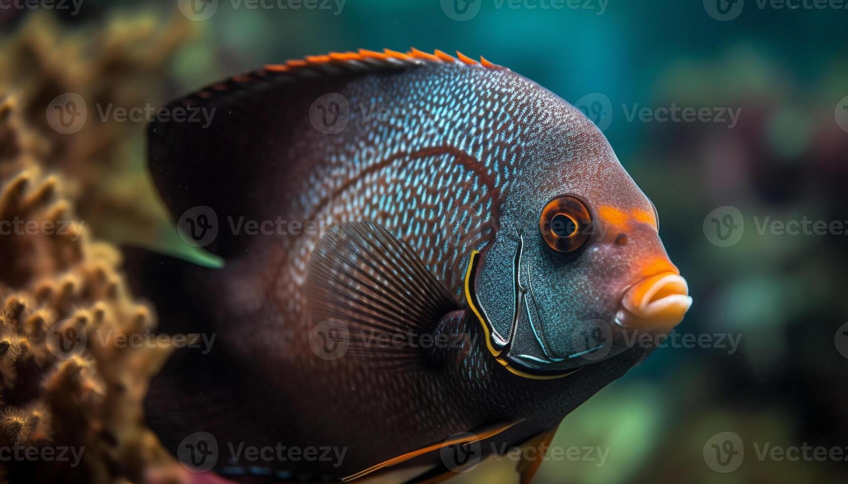
<svg viewBox="0 0 848 484">
<path fill-rule="evenodd" d="M 656 207 L 603 133 L 559 97 L 546 103 L 466 293 L 501 364 L 554 378 L 671 331 L 692 298 Z"/>
</svg>

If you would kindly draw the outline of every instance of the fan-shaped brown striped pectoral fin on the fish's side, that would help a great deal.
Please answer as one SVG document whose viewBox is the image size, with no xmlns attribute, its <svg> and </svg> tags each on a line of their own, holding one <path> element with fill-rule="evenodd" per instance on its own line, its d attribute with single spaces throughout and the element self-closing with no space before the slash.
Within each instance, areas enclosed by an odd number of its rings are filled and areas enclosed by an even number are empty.
<svg viewBox="0 0 848 484">
<path fill-rule="evenodd" d="M 438 366 L 432 339 L 459 304 L 404 242 L 381 225 L 345 222 L 310 256 L 306 298 L 313 323 L 338 326 L 349 355 L 390 370 Z"/>
</svg>

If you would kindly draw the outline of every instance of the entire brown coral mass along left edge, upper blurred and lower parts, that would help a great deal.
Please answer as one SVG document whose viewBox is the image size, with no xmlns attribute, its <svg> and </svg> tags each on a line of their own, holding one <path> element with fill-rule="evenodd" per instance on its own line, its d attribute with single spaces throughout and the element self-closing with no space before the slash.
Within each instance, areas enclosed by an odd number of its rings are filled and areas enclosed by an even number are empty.
<svg viewBox="0 0 848 484">
<path fill-rule="evenodd" d="M 94 226 L 150 242 L 164 217 L 150 184 L 138 182 L 143 150 L 129 153 L 143 126 L 90 122 L 64 136 L 47 125 L 45 106 L 64 92 L 143 103 L 187 33 L 179 19 L 64 32 L 38 15 L 0 42 L 0 221 L 39 227 L 5 225 L 0 235 L 0 445 L 81 451 L 76 468 L 72 459 L 0 463 L 2 481 L 176 480 L 142 418 L 149 378 L 170 348 L 114 343 L 155 319 L 128 291 L 120 251 L 92 236 Z M 51 348 L 69 320 L 85 328 L 81 353 Z"/>
</svg>

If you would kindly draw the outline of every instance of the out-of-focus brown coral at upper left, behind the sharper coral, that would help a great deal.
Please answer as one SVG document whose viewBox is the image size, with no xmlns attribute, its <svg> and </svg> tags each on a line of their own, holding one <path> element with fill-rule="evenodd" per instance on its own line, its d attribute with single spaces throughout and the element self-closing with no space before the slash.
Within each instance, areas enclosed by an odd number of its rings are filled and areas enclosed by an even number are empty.
<svg viewBox="0 0 848 484">
<path fill-rule="evenodd" d="M 66 176 L 77 214 L 111 242 L 153 245 L 167 219 L 144 170 L 146 123 L 101 113 L 163 101 L 166 66 L 192 34 L 190 23 L 178 13 L 162 22 L 133 12 L 113 15 L 103 26 L 67 28 L 34 14 L 15 36 L 0 38 L 0 91 L 14 89 L 20 116 L 39 142 L 42 167 Z M 73 134 L 54 131 L 45 115 L 65 93 L 86 103 L 86 123 Z"/>
</svg>

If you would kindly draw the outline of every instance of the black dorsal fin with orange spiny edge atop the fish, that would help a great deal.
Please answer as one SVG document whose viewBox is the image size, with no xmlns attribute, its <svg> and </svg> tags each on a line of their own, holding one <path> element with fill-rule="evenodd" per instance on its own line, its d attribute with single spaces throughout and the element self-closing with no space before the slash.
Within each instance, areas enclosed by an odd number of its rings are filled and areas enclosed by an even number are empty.
<svg viewBox="0 0 848 484">
<path fill-rule="evenodd" d="M 308 127 L 311 104 L 317 98 L 346 92 L 346 86 L 359 77 L 382 78 L 427 65 L 502 69 L 484 59 L 477 63 L 457 55 L 461 60 L 438 50 L 431 54 L 416 48 L 407 53 L 388 49 L 334 52 L 268 65 L 207 86 L 165 107 L 165 114 L 174 114 L 170 120 L 150 125 L 148 159 L 153 180 L 181 224 L 199 227 L 192 217 L 200 215 L 204 226 L 217 220 L 219 230 L 199 231 L 213 235 L 198 243 L 226 258 L 243 250 L 242 242 L 248 240 L 232 233 L 230 220 L 265 220 L 261 217 L 269 216 L 269 207 L 275 203 L 273 187 L 282 177 L 297 175 L 291 171 L 293 155 L 287 148 L 303 142 L 298 128 Z M 298 156 L 297 161 L 302 161 L 303 154 Z M 316 158 L 315 163 L 319 162 Z"/>
</svg>

